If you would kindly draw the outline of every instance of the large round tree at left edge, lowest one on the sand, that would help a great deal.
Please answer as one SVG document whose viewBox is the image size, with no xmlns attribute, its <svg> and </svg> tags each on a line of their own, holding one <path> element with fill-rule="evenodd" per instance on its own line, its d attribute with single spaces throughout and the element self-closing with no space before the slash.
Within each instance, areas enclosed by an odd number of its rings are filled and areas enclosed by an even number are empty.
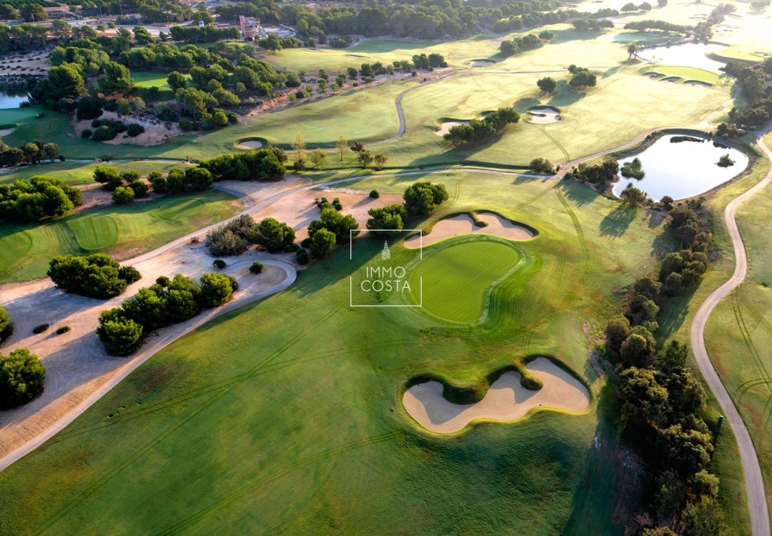
<svg viewBox="0 0 772 536">
<path fill-rule="evenodd" d="M 23 9 L 23 8 L 22 8 Z M 46 369 L 26 348 L 0 355 L 0 409 L 26 404 L 43 390 Z"/>
</svg>

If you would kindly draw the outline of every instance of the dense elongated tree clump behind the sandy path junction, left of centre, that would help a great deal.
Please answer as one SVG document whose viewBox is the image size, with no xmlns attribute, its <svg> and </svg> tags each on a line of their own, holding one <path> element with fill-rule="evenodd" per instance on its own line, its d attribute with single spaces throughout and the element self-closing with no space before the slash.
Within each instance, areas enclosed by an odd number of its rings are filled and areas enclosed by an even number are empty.
<svg viewBox="0 0 772 536">
<path fill-rule="evenodd" d="M 242 153 L 222 154 L 202 160 L 198 167 L 212 174 L 215 181 L 223 178 L 239 181 L 276 181 L 286 173 L 287 156 L 280 148 L 250 149 Z"/>
</svg>

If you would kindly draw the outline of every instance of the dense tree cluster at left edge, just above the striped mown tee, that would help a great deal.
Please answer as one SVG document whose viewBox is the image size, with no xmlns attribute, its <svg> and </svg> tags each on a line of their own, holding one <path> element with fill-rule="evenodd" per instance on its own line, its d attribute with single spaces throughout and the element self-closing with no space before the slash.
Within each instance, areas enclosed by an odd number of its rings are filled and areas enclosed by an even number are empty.
<svg viewBox="0 0 772 536">
<path fill-rule="evenodd" d="M 83 204 L 80 190 L 59 179 L 35 175 L 29 181 L 16 179 L 0 185 L 0 219 L 32 220 L 60 216 Z"/>
</svg>

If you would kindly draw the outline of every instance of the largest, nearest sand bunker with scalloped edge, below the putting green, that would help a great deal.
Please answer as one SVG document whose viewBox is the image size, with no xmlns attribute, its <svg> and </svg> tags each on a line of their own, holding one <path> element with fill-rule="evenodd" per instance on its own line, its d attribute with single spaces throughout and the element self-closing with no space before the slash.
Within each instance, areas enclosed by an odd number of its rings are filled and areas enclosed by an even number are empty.
<svg viewBox="0 0 772 536">
<path fill-rule="evenodd" d="M 583 412 L 590 406 L 590 394 L 582 383 L 547 358 L 536 358 L 527 367 L 543 383 L 538 391 L 520 385 L 520 373 L 507 371 L 486 395 L 474 404 L 454 404 L 442 396 L 440 382 L 413 385 L 402 404 L 410 416 L 425 429 L 453 433 L 476 419 L 513 421 L 539 406 Z"/>
</svg>

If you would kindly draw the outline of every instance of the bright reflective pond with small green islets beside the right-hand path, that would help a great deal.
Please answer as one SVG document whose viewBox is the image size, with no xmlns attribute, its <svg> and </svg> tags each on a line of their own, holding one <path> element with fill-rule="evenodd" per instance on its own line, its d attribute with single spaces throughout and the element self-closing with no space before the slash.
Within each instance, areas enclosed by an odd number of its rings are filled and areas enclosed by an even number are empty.
<svg viewBox="0 0 772 536">
<path fill-rule="evenodd" d="M 740 175 L 748 165 L 748 157 L 737 149 L 715 147 L 710 140 L 672 143 L 673 137 L 675 134 L 662 136 L 642 153 L 620 160 L 621 168 L 625 162 L 639 158 L 646 175 L 640 181 L 620 175 L 621 181 L 613 188 L 614 195 L 618 196 L 628 182 L 632 182 L 655 201 L 663 195 L 673 199 L 692 197 Z M 734 165 L 728 168 L 716 165 L 724 154 L 729 154 Z"/>
</svg>

